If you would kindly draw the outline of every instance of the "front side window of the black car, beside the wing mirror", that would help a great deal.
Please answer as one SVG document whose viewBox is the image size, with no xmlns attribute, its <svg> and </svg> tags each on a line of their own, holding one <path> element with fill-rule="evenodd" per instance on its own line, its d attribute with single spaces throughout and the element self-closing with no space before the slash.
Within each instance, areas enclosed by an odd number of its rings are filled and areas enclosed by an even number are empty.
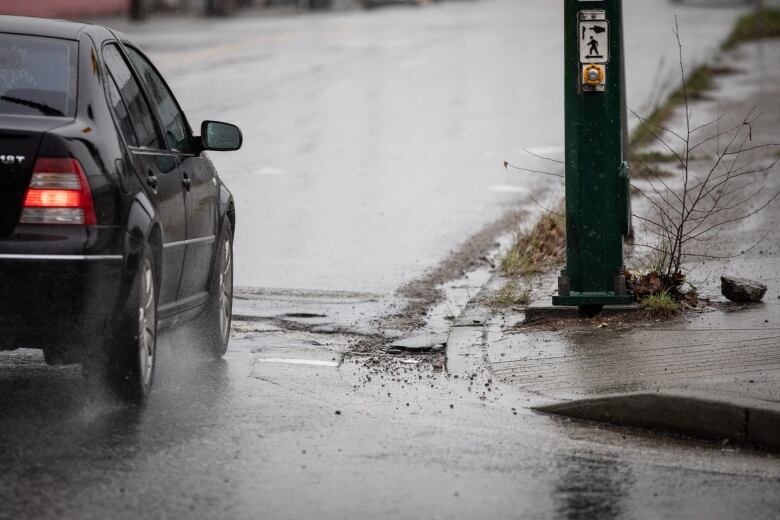
<svg viewBox="0 0 780 520">
<path fill-rule="evenodd" d="M 135 65 L 141 76 L 141 81 L 146 85 L 147 91 L 152 95 L 152 102 L 157 108 L 160 122 L 165 133 L 165 142 L 170 150 L 178 152 L 190 152 L 190 131 L 184 114 L 179 109 L 176 99 L 173 97 L 165 81 L 151 64 L 151 62 L 133 47 L 126 47 L 130 61 Z"/>
</svg>

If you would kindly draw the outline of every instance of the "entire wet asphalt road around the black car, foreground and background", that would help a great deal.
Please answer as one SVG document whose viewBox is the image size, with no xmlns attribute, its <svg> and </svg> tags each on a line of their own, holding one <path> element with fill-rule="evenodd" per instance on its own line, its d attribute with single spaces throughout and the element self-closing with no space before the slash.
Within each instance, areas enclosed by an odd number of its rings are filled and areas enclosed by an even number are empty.
<svg viewBox="0 0 780 520">
<path fill-rule="evenodd" d="M 284 290 L 257 297 L 222 362 L 165 335 L 142 410 L 85 388 L 78 367 L 0 353 L 0 518 L 777 518 L 774 456 L 551 419 L 437 356 L 350 354 L 355 316 L 370 322 L 384 294 L 543 189 L 500 162 L 562 144 L 549 4 L 132 31 L 193 121 L 245 129 L 244 151 L 215 159 L 238 199 L 238 283 Z M 627 22 L 657 39 L 672 10 L 640 4 Z M 734 12 L 687 8 L 691 46 L 714 45 Z M 629 69 L 637 104 L 647 56 Z M 270 319 L 296 309 L 351 329 Z"/>
</svg>

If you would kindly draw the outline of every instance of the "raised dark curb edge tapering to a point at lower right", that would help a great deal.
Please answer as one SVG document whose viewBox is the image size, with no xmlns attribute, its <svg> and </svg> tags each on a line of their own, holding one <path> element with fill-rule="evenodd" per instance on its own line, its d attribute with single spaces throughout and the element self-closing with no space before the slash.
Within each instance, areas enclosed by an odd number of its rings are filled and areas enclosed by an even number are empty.
<svg viewBox="0 0 780 520">
<path fill-rule="evenodd" d="M 554 403 L 536 411 L 780 450 L 780 403 L 696 392 L 637 392 Z"/>
</svg>

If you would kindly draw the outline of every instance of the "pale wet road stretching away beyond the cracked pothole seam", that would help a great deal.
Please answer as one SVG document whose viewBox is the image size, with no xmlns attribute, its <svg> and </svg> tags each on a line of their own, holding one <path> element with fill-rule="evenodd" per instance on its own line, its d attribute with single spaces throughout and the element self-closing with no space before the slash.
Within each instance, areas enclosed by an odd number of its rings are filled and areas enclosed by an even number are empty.
<svg viewBox="0 0 780 520">
<path fill-rule="evenodd" d="M 675 9 L 688 64 L 740 12 L 625 3 L 629 104 L 644 113 L 677 83 Z M 237 285 L 391 292 L 558 185 L 502 164 L 560 156 L 562 18 L 560 2 L 479 0 L 117 25 L 193 126 L 244 132 L 243 150 L 211 154 L 236 197 Z"/>
</svg>

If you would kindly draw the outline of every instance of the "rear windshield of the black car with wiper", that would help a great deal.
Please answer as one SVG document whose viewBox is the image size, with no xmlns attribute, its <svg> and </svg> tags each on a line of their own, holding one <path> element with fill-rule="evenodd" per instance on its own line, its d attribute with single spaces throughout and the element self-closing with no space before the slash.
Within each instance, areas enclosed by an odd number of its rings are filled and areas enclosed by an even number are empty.
<svg viewBox="0 0 780 520">
<path fill-rule="evenodd" d="M 0 33 L 0 114 L 76 114 L 78 44 Z"/>
</svg>

